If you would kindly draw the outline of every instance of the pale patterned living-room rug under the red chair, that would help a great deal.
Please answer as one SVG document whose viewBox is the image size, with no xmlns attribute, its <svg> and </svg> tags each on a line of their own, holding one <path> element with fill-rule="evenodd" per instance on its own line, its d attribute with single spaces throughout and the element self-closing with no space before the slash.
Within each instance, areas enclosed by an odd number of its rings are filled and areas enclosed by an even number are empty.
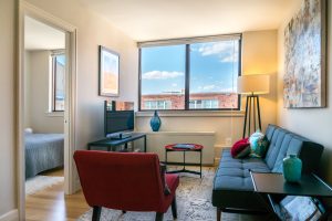
<svg viewBox="0 0 332 221">
<path fill-rule="evenodd" d="M 198 169 L 198 168 L 194 168 Z M 216 221 L 216 208 L 211 204 L 215 168 L 204 168 L 201 179 L 195 175 L 180 175 L 177 188 L 177 220 L 178 221 Z M 79 221 L 91 221 L 92 209 L 81 215 Z M 152 221 L 155 212 L 126 212 L 102 209 L 101 221 Z M 263 220 L 259 215 L 224 213 L 222 221 L 256 221 Z M 164 214 L 165 221 L 173 220 L 170 208 Z"/>
</svg>

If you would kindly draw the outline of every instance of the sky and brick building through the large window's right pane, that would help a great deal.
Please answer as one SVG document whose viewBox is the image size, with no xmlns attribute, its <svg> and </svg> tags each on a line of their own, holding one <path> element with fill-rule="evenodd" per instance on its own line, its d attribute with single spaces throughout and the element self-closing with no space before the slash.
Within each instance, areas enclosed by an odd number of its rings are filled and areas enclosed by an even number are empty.
<svg viewBox="0 0 332 221">
<path fill-rule="evenodd" d="M 238 41 L 190 44 L 190 109 L 238 107 Z"/>
</svg>

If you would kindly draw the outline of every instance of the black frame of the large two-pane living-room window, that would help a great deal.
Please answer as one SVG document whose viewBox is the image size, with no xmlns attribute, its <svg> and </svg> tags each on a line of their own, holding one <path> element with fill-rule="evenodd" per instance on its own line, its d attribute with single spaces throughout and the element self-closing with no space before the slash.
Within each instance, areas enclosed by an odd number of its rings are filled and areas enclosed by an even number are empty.
<svg viewBox="0 0 332 221">
<path fill-rule="evenodd" d="M 238 63 L 238 76 L 241 76 L 241 67 L 242 67 L 242 34 L 237 34 L 239 36 L 239 63 Z M 201 36 L 201 38 L 189 38 L 189 39 L 174 39 L 174 40 L 165 40 L 165 41 L 155 41 L 155 42 L 141 42 L 138 43 L 138 112 L 152 112 L 155 109 L 142 109 L 142 48 L 147 46 L 172 46 L 184 44 L 185 45 L 185 107 L 184 109 L 156 109 L 158 112 L 212 112 L 212 110 L 240 110 L 241 109 L 241 95 L 238 94 L 238 107 L 237 108 L 189 108 L 189 90 L 190 90 L 190 44 L 201 43 L 201 42 L 214 42 L 214 41 L 222 41 L 222 38 L 228 38 L 229 35 L 218 35 L 218 36 Z M 231 35 L 230 35 L 231 36 Z M 203 41 L 201 41 L 203 40 Z M 226 40 L 225 40 L 226 41 Z M 165 43 L 166 42 L 166 43 Z M 173 42 L 173 43 L 172 43 Z M 142 44 L 147 43 L 147 46 L 139 46 Z M 149 45 L 152 44 L 152 45 Z"/>
</svg>

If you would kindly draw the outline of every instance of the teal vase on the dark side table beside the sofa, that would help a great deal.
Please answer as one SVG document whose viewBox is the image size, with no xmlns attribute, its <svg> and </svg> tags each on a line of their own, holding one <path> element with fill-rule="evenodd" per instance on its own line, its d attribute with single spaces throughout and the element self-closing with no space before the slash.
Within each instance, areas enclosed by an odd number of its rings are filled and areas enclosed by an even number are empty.
<svg viewBox="0 0 332 221">
<path fill-rule="evenodd" d="M 286 181 L 297 182 L 301 179 L 302 160 L 297 155 L 283 158 L 283 177 Z"/>
</svg>

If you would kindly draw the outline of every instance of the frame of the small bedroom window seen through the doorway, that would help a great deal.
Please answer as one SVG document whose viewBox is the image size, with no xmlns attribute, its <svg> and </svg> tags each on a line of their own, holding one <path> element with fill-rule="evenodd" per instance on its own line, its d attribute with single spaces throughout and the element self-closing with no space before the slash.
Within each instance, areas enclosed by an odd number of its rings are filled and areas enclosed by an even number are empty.
<svg viewBox="0 0 332 221">
<path fill-rule="evenodd" d="M 64 52 L 60 51 L 60 52 L 53 52 L 51 54 L 51 60 L 52 60 L 52 72 L 51 72 L 51 76 L 52 76 L 52 84 L 51 86 L 51 112 L 52 113 L 63 113 L 64 109 L 56 109 L 56 56 L 59 55 L 65 55 Z M 64 73 L 64 77 L 65 77 L 65 73 Z"/>
</svg>

